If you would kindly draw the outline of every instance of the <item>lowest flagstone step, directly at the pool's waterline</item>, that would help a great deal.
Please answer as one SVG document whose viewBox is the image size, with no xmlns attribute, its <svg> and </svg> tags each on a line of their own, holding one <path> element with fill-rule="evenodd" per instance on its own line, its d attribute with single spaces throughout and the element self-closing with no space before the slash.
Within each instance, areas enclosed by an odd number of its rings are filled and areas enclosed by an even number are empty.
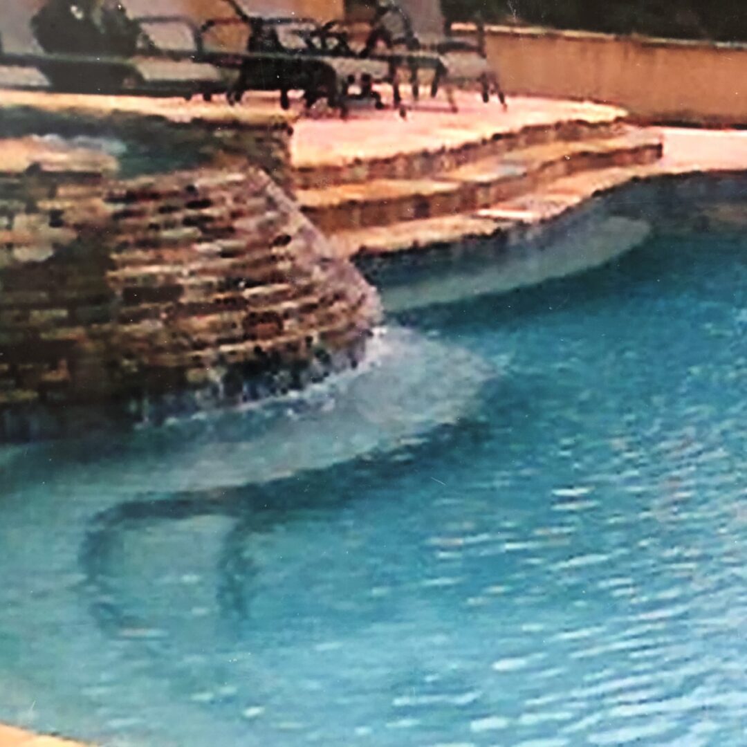
<svg viewBox="0 0 747 747">
<path fill-rule="evenodd" d="M 509 243 L 521 241 L 534 226 L 560 217 L 591 197 L 657 173 L 656 164 L 583 171 L 476 211 L 338 232 L 332 235 L 332 246 L 339 255 L 353 257 L 453 246 L 494 236 Z"/>
</svg>

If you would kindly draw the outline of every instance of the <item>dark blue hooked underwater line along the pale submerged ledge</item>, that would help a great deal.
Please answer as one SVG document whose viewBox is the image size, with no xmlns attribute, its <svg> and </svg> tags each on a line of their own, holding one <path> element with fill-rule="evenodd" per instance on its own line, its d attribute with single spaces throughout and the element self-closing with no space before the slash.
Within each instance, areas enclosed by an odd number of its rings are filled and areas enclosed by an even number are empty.
<svg viewBox="0 0 747 747">
<path fill-rule="evenodd" d="M 497 392 L 486 391 L 486 396 L 491 394 Z M 526 406 L 530 406 L 528 400 Z M 161 528 L 168 531 L 176 522 L 189 519 L 220 517 L 234 523 L 223 534 L 215 557 L 215 601 L 221 621 L 236 633 L 251 622 L 252 589 L 258 580 L 257 567 L 246 554 L 247 540 L 252 535 L 271 533 L 279 526 L 303 521 L 305 512 L 340 509 L 359 497 L 361 484 L 373 495 L 383 486 L 411 474 L 414 463 L 424 474 L 448 469 L 449 460 L 459 461 L 462 455 L 474 455 L 480 450 L 490 440 L 493 427 L 494 424 L 475 413 L 457 424 L 436 429 L 427 441 L 408 444 L 375 460 L 362 456 L 343 465 L 232 489 L 220 495 L 207 491 L 120 503 L 92 519 L 78 554 L 90 613 L 109 636 L 119 636 L 128 628 L 153 627 L 152 621 L 125 609 L 117 600 L 112 568 L 123 536 L 131 531 Z"/>
</svg>

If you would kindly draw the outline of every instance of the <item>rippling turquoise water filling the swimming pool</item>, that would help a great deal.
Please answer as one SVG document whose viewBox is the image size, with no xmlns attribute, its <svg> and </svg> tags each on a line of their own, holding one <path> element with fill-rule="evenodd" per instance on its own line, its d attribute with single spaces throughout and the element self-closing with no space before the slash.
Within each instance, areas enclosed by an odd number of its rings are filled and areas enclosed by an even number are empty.
<svg viewBox="0 0 747 747">
<path fill-rule="evenodd" d="M 747 743 L 747 241 L 409 309 L 294 400 L 0 452 L 0 720 Z"/>
</svg>

